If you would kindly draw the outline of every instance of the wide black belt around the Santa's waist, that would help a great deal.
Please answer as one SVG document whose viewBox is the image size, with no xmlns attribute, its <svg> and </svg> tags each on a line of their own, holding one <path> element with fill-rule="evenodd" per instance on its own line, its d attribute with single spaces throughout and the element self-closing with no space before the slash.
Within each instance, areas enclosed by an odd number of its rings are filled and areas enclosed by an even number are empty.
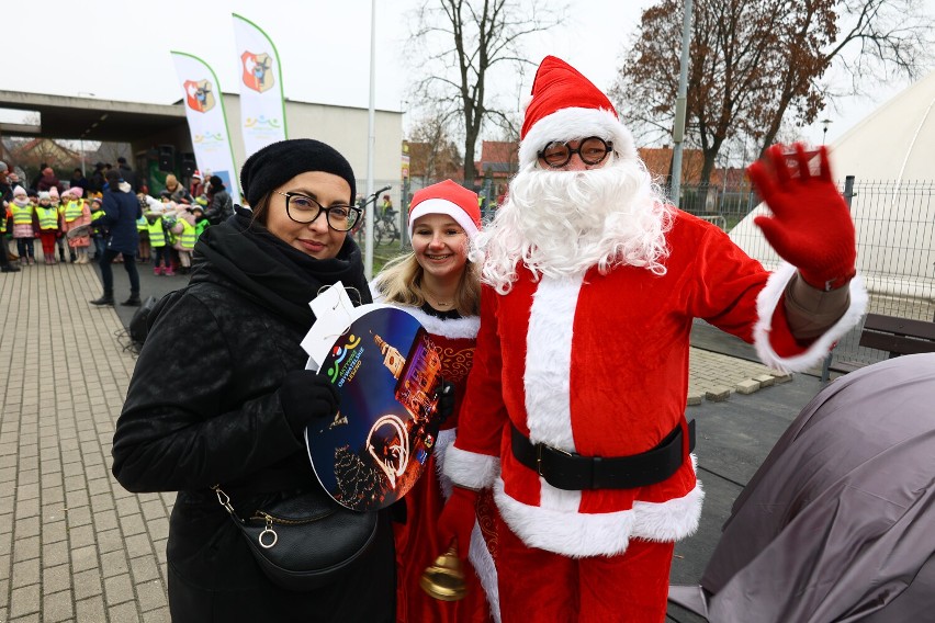
<svg viewBox="0 0 935 623">
<path fill-rule="evenodd" d="M 675 427 L 658 445 L 632 456 L 582 456 L 533 444 L 512 428 L 512 455 L 557 489 L 632 489 L 655 485 L 678 472 L 685 461 L 681 426 Z M 695 420 L 688 422 L 688 450 L 695 449 Z"/>
</svg>

